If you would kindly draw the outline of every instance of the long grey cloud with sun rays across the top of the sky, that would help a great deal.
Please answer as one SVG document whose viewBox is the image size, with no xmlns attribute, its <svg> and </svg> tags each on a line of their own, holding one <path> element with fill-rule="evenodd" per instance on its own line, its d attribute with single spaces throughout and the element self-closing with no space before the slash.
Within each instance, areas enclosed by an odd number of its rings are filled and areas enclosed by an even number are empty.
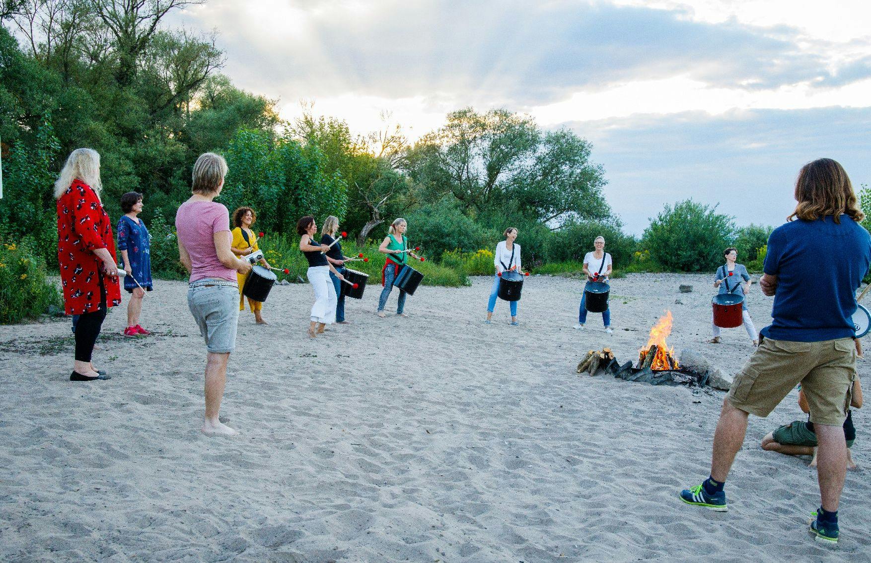
<svg viewBox="0 0 871 563">
<path fill-rule="evenodd" d="M 742 91 L 871 76 L 861 49 L 842 60 L 843 50 L 829 55 L 782 24 L 579 0 L 212 0 L 183 19 L 220 31 L 240 85 L 292 101 L 352 94 L 524 109 L 676 76 Z"/>
</svg>

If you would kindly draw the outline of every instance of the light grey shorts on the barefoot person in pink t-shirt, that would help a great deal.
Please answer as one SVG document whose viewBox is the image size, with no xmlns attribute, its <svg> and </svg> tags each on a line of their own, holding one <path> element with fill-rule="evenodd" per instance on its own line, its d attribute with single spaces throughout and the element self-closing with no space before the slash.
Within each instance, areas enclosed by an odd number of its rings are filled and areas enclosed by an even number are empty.
<svg viewBox="0 0 871 563">
<path fill-rule="evenodd" d="M 206 349 L 215 354 L 225 354 L 236 348 L 238 288 L 206 285 L 188 288 L 187 306 L 199 326 L 199 334 L 206 341 Z"/>
</svg>

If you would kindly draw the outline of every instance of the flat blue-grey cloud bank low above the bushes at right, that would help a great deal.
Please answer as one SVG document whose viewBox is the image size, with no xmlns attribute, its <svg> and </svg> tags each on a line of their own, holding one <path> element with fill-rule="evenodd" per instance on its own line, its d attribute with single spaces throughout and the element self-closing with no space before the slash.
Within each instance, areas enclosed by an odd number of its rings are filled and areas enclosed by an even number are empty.
<svg viewBox="0 0 871 563">
<path fill-rule="evenodd" d="M 854 188 L 871 183 L 871 108 L 751 110 L 635 115 L 567 123 L 593 144 L 605 195 L 630 233 L 641 234 L 666 203 L 719 203 L 739 225 L 780 225 L 795 206 L 807 162 L 841 162 Z"/>
</svg>

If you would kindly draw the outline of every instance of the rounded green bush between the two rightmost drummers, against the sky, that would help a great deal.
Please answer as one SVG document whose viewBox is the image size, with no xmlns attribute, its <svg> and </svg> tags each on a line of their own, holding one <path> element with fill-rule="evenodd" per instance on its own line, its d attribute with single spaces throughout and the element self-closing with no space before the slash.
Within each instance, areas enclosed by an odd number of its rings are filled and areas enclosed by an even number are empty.
<svg viewBox="0 0 871 563">
<path fill-rule="evenodd" d="M 733 218 L 716 210 L 693 200 L 666 205 L 645 229 L 641 246 L 668 270 L 712 271 L 723 263 L 723 249 L 735 234 Z"/>
</svg>

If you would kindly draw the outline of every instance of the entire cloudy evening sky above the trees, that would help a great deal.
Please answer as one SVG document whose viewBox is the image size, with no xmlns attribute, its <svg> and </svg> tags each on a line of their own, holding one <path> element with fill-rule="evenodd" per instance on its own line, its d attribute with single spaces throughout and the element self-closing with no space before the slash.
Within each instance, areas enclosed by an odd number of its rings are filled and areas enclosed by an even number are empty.
<svg viewBox="0 0 871 563">
<path fill-rule="evenodd" d="M 867 0 L 208 0 L 168 22 L 217 31 L 223 72 L 416 139 L 467 106 L 529 113 L 593 145 L 605 197 L 641 234 L 665 204 L 780 225 L 800 167 L 871 183 Z"/>
</svg>

